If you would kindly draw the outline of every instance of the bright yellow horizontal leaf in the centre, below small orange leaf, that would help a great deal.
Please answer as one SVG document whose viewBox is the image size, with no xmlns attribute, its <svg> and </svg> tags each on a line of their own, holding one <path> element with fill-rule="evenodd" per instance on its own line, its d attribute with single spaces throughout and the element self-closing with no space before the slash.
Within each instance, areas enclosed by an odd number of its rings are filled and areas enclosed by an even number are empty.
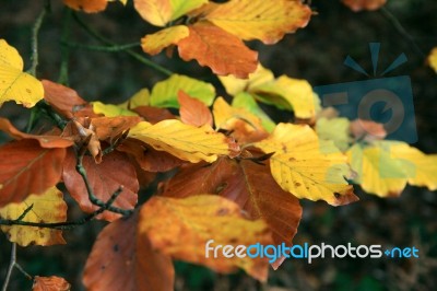
<svg viewBox="0 0 437 291">
<path fill-rule="evenodd" d="M 141 121 L 130 129 L 128 137 L 191 163 L 214 162 L 217 155 L 231 153 L 226 137 L 213 131 L 210 126 L 198 128 L 177 119 L 167 119 L 155 125 Z"/>
</svg>

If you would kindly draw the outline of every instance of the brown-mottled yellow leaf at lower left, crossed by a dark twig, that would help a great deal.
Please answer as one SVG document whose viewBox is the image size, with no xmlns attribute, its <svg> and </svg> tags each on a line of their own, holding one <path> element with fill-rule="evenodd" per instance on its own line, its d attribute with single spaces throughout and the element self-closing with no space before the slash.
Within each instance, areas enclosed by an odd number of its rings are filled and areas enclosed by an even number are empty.
<svg viewBox="0 0 437 291">
<path fill-rule="evenodd" d="M 15 220 L 31 206 L 33 206 L 32 209 L 25 214 L 22 221 L 55 223 L 67 220 L 67 203 L 62 199 L 62 193 L 56 187 L 50 187 L 40 195 L 31 195 L 23 202 L 10 203 L 0 208 L 0 217 Z M 1 230 L 8 234 L 11 242 L 17 243 L 21 246 L 29 244 L 66 244 L 62 232 L 58 230 L 22 225 L 2 225 Z"/>
</svg>

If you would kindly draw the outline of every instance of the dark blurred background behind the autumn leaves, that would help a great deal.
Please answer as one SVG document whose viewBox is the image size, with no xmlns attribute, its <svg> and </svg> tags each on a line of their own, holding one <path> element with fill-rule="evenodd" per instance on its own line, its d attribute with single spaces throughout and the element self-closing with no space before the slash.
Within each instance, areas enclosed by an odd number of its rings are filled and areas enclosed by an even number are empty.
<svg viewBox="0 0 437 291">
<path fill-rule="evenodd" d="M 61 1 L 51 1 L 39 37 L 39 67 L 37 77 L 56 81 L 60 66 Z M 381 43 L 378 67 L 387 68 L 404 53 L 408 63 L 390 72 L 389 77 L 410 75 L 418 142 L 414 144 L 429 153 L 437 152 L 437 75 L 426 66 L 426 55 L 437 46 L 437 1 L 389 0 L 386 11 L 354 13 L 338 0 L 314 0 L 318 13 L 309 25 L 287 35 L 274 46 L 258 42 L 249 45 L 260 51 L 261 62 L 275 75 L 287 74 L 306 79 L 312 85 L 334 84 L 368 78 L 343 66 L 350 55 L 367 71 L 371 71 L 368 43 Z M 0 2 L 0 37 L 19 49 L 29 66 L 31 30 L 45 1 L 2 0 Z M 99 14 L 79 13 L 91 26 L 117 44 L 139 42 L 154 28 L 133 10 L 110 3 Z M 405 33 L 399 28 L 403 26 Z M 71 22 L 70 39 L 97 45 L 76 23 Z M 141 53 L 140 49 L 138 49 Z M 143 54 L 144 55 L 144 54 Z M 144 55 L 145 56 L 145 55 Z M 209 69 L 196 62 L 184 62 L 164 54 L 152 58 L 172 71 L 213 82 Z M 140 63 L 123 53 L 98 53 L 73 49 L 69 62 L 70 86 L 88 101 L 122 102 L 141 88 L 151 88 L 165 75 Z M 373 77 L 371 77 L 373 78 Z M 223 89 L 218 93 L 224 93 Z M 13 104 L 4 104 L 1 116 L 7 116 L 23 128 L 26 112 Z M 286 113 L 277 115 L 290 119 Z M 287 260 L 262 286 L 243 272 L 223 276 L 205 268 L 176 263 L 177 290 L 435 290 L 437 287 L 437 197 L 423 188 L 408 187 L 400 198 L 380 199 L 362 193 L 361 201 L 341 208 L 324 202 L 303 200 L 304 217 L 295 243 L 332 245 L 381 244 L 383 246 L 416 246 L 418 259 L 316 259 L 311 265 Z M 70 218 L 80 217 L 70 201 Z M 94 238 L 104 225 L 93 222 L 67 231 L 68 245 L 26 248 L 19 247 L 19 263 L 31 275 L 57 275 L 72 283 L 72 290 L 82 290 L 81 272 Z M 11 244 L 0 235 L 0 282 L 9 264 Z M 0 283 L 1 286 L 1 283 Z M 32 283 L 16 270 L 9 290 L 29 290 Z"/>
</svg>

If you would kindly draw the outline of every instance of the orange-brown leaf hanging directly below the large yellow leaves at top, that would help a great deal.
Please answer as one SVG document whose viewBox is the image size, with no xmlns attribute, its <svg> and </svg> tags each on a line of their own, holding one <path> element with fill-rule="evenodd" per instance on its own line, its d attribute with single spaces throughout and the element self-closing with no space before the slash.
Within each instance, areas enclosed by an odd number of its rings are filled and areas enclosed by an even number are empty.
<svg viewBox="0 0 437 291">
<path fill-rule="evenodd" d="M 178 43 L 184 60 L 196 59 L 216 74 L 248 78 L 258 66 L 258 53 L 250 50 L 235 35 L 208 22 L 189 26 L 190 35 Z"/>
</svg>

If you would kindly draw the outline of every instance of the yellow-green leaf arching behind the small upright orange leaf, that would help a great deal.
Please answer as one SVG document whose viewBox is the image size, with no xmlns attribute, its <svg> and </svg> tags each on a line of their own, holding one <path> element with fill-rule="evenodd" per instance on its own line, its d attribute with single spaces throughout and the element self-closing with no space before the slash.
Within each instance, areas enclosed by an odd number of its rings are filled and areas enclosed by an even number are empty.
<svg viewBox="0 0 437 291">
<path fill-rule="evenodd" d="M 180 90 L 208 106 L 212 104 L 215 97 L 215 89 L 212 84 L 186 75 L 173 74 L 153 86 L 150 105 L 179 108 L 177 98 Z"/>
</svg>

